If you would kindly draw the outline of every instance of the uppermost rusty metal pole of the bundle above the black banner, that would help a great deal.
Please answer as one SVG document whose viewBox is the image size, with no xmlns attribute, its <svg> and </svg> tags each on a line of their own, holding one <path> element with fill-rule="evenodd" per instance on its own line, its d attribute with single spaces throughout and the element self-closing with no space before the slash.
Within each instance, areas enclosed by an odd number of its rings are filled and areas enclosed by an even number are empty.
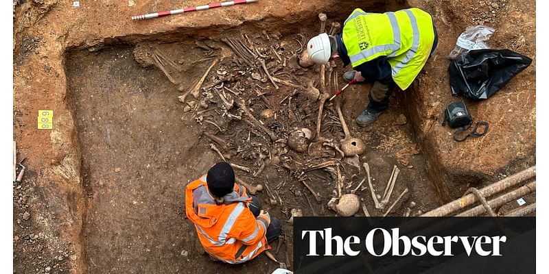
<svg viewBox="0 0 549 274">
<path fill-rule="evenodd" d="M 480 189 L 480 194 L 482 194 L 482 196 L 484 197 L 490 197 L 491 195 L 502 192 L 507 188 L 511 188 L 513 186 L 516 186 L 517 184 L 520 184 L 521 182 L 526 181 L 527 179 L 535 177 L 535 175 L 536 175 L 536 166 L 532 166 L 528 169 L 525 169 L 524 171 L 521 171 L 509 177 L 506 177 L 501 181 L 495 182 L 485 188 Z M 467 206 L 471 206 L 475 201 L 476 201 L 476 196 L 474 194 L 468 194 L 468 195 L 465 195 L 464 197 L 461 197 L 460 199 L 451 201 L 445 204 L 444 206 L 441 206 L 440 208 L 431 210 L 430 212 L 427 212 L 421 216 L 422 217 L 447 216 Z"/>
</svg>

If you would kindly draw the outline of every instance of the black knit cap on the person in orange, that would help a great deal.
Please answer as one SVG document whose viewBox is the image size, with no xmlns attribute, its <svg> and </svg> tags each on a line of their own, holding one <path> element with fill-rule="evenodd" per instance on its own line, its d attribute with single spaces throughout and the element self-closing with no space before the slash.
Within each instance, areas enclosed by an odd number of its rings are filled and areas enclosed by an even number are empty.
<svg viewBox="0 0 549 274">
<path fill-rule="evenodd" d="M 218 162 L 208 171 L 206 182 L 211 195 L 223 197 L 235 188 L 235 172 L 230 164 Z"/>
</svg>

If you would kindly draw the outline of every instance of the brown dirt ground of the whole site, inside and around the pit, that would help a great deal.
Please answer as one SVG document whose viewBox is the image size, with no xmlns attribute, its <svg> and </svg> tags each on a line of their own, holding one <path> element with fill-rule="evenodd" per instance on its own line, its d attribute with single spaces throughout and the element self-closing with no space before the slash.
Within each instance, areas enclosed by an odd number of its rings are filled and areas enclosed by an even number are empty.
<svg viewBox="0 0 549 274">
<path fill-rule="evenodd" d="M 183 188 L 221 160 L 212 145 L 229 162 L 250 169 L 235 169 L 237 177 L 266 186 L 258 196 L 271 216 L 284 220 L 285 240 L 276 256 L 290 267 L 292 225 L 285 220 L 292 208 L 305 216 L 336 216 L 327 203 L 338 197 L 338 171 L 344 177 L 341 192 L 351 192 L 368 163 L 375 191 L 382 194 L 397 166 L 390 203 L 405 188 L 408 193 L 388 215 L 402 216 L 409 208 L 415 216 L 463 195 L 469 186 L 535 165 L 533 1 L 344 1 L 339 7 L 331 1 L 260 2 L 115 23 L 110 10 L 129 18 L 176 7 L 157 1 L 80 1 L 80 8 L 56 0 L 14 1 L 14 139 L 18 159 L 27 158 L 23 182 L 14 183 L 14 273 L 270 273 L 277 266 L 265 256 L 229 266 L 195 251 Z M 359 6 L 377 12 L 427 10 L 439 29 L 437 53 L 411 90 L 393 93 L 390 108 L 369 128 L 354 119 L 371 84 L 351 86 L 340 97 L 351 136 L 365 144 L 360 156 L 343 159 L 339 147 L 331 147 L 344 138 L 338 100 L 323 112 L 321 136 L 332 144 L 313 136 L 305 152 L 289 149 L 288 137 L 296 130 L 316 132 L 319 105 L 306 97 L 310 79 L 320 88 L 319 68 L 297 64 L 300 44 L 318 33 L 318 12 L 327 13 L 329 29 Z M 480 23 L 497 29 L 491 46 L 534 61 L 490 100 L 468 102 L 473 116 L 489 121 L 492 129 L 458 145 L 447 127 L 437 125 L 444 106 L 455 101 L 445 56 L 465 27 Z M 235 55 L 227 38 L 257 49 L 256 60 L 266 60 L 270 75 L 290 84 L 278 82 L 274 88 L 261 64 Z M 181 102 L 213 60 L 218 61 L 197 97 Z M 336 64 L 341 87 L 346 69 Z M 250 126 L 238 106 L 242 102 L 272 138 Z M 36 131 L 38 110 L 54 110 L 53 130 Z M 501 115 L 509 112 L 517 115 Z M 335 164 L 308 171 L 327 161 Z M 303 182 L 318 192 L 320 202 Z M 387 208 L 375 209 L 369 188 L 356 194 L 371 214 L 385 213 Z M 535 202 L 535 194 L 525 199 Z M 510 204 L 502 212 L 516 207 Z"/>
</svg>

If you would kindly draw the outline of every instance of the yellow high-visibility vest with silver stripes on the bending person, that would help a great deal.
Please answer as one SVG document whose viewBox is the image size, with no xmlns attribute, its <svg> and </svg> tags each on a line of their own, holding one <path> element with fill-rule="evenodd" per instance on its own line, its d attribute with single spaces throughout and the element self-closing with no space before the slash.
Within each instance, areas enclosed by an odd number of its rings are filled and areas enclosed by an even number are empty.
<svg viewBox="0 0 549 274">
<path fill-rule="evenodd" d="M 353 67 L 386 56 L 393 81 L 406 90 L 429 58 L 433 22 L 418 8 L 383 14 L 355 9 L 343 25 L 342 40 Z"/>
</svg>

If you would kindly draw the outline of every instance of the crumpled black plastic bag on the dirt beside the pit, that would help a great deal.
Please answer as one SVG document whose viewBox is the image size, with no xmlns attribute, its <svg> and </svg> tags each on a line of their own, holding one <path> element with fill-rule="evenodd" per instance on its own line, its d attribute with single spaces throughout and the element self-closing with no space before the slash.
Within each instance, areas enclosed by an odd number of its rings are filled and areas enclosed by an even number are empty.
<svg viewBox="0 0 549 274">
<path fill-rule="evenodd" d="M 472 100 L 488 99 L 530 63 L 532 59 L 509 49 L 478 49 L 463 53 L 448 67 L 452 95 Z"/>
</svg>

